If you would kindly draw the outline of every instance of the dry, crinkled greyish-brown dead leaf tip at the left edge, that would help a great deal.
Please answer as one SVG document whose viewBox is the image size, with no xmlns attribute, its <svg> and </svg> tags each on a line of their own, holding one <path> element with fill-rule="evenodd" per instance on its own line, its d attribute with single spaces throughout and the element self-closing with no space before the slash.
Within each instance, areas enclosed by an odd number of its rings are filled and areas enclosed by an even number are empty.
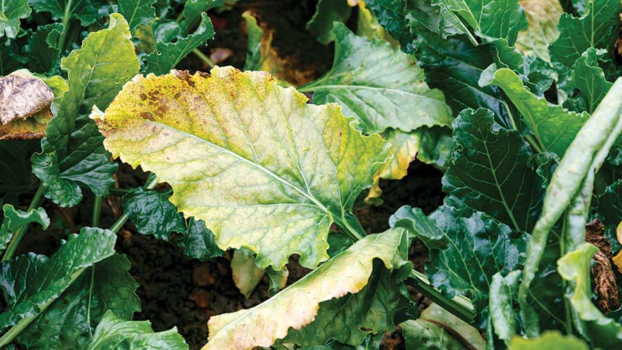
<svg viewBox="0 0 622 350">
<path fill-rule="evenodd" d="M 3 125 L 46 110 L 52 101 L 52 89 L 28 73 L 12 72 L 0 78 L 0 123 Z"/>
</svg>

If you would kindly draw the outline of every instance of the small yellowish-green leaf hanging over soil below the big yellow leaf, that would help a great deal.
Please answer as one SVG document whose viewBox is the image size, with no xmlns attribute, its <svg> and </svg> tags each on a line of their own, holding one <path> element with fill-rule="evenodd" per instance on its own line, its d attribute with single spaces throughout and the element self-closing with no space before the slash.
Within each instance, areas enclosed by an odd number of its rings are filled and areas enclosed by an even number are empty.
<svg viewBox="0 0 622 350">
<path fill-rule="evenodd" d="M 265 271 L 255 264 L 255 257 L 249 249 L 236 249 L 231 260 L 231 275 L 240 293 L 247 298 L 261 282 Z"/>
</svg>

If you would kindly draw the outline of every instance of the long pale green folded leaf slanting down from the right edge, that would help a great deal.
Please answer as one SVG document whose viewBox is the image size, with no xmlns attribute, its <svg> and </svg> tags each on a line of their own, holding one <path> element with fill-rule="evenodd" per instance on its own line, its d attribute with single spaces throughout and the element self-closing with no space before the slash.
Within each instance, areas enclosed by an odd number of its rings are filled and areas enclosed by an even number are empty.
<svg viewBox="0 0 622 350">
<path fill-rule="evenodd" d="M 539 334 L 539 317 L 534 308 L 527 302 L 527 298 L 531 293 L 530 284 L 534 280 L 545 254 L 549 232 L 567 209 L 571 209 L 568 212 L 573 214 L 575 211 L 574 204 L 580 204 L 580 206 L 585 206 L 585 209 L 578 208 L 579 212 L 583 212 L 579 213 L 581 214 L 581 217 L 578 217 L 579 222 L 570 225 L 579 231 L 578 235 L 566 237 L 565 240 L 574 238 L 574 242 L 571 242 L 574 244 L 585 240 L 585 215 L 587 215 L 587 205 L 589 205 L 592 190 L 583 188 L 583 185 L 589 183 L 587 180 L 590 177 L 593 184 L 594 173 L 603 164 L 612 144 L 622 133 L 622 122 L 619 118 L 621 106 L 622 79 L 618 79 L 599 107 L 596 108 L 592 117 L 587 119 L 579 130 L 556 168 L 547 188 L 542 215 L 540 215 L 531 233 L 522 284 L 518 289 L 521 316 L 526 333 L 530 337 Z M 581 233 L 581 231 L 583 232 Z"/>
</svg>

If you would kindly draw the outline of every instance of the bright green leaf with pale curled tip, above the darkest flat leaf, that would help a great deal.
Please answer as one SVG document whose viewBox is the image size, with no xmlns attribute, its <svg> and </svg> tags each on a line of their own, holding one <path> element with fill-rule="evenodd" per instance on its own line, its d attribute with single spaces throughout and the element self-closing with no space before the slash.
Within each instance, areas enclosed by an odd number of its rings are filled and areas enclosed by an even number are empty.
<svg viewBox="0 0 622 350">
<path fill-rule="evenodd" d="M 516 72 L 508 68 L 490 66 L 482 74 L 480 85 L 502 88 L 520 111 L 542 150 L 556 153 L 560 158 L 589 117 L 587 113 L 574 113 L 550 104 L 544 97 L 529 92 Z"/>
</svg>

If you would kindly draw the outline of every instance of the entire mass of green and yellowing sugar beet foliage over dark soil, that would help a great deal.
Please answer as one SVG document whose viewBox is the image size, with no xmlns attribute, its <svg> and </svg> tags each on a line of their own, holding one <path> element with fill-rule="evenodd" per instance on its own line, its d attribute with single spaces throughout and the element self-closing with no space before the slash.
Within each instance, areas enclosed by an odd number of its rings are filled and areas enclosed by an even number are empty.
<svg viewBox="0 0 622 350">
<path fill-rule="evenodd" d="M 233 2 L 1 2 L 0 347 L 188 349 L 133 320 L 130 220 L 194 259 L 234 250 L 245 295 L 267 275 L 272 297 L 210 318 L 202 349 L 379 349 L 398 325 L 407 349 L 622 348 L 619 1 L 320 0 L 307 28 L 334 61 L 303 86 L 252 12 L 243 70 L 196 50 Z M 209 74 L 174 69 L 191 52 Z M 37 138 L 30 160 L 8 141 Z M 111 157 L 151 175 L 104 229 Z M 413 161 L 444 171 L 444 203 L 366 232 L 355 202 Z M 16 255 L 44 197 L 92 227 Z M 312 271 L 286 286 L 294 254 Z"/>
</svg>

